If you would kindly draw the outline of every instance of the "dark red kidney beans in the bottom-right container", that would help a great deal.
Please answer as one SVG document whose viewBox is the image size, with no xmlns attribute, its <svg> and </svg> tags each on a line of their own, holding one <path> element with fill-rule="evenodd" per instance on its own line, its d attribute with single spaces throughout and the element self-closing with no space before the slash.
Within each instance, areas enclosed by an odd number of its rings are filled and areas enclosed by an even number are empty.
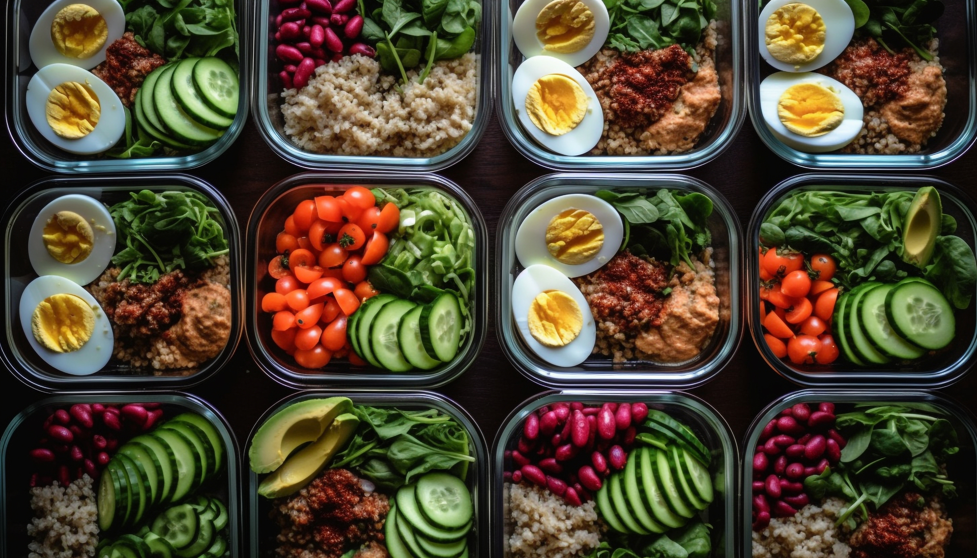
<svg viewBox="0 0 977 558">
<path fill-rule="evenodd" d="M 753 453 L 753 531 L 771 517 L 791 517 L 810 503 L 804 480 L 841 458 L 845 439 L 834 429 L 834 404 L 799 403 L 763 427 Z"/>
</svg>

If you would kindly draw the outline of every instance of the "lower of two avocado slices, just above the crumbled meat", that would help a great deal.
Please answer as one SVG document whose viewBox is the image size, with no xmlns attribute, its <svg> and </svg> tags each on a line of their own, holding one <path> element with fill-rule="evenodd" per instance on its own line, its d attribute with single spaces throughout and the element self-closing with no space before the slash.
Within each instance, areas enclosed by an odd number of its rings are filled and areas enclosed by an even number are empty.
<svg viewBox="0 0 977 558">
<path fill-rule="evenodd" d="M 274 473 L 258 485 L 258 494 L 268 498 L 297 493 L 319 474 L 336 451 L 346 447 L 360 419 L 352 413 L 340 414 L 329 424 L 319 440 L 290 455 Z"/>
</svg>

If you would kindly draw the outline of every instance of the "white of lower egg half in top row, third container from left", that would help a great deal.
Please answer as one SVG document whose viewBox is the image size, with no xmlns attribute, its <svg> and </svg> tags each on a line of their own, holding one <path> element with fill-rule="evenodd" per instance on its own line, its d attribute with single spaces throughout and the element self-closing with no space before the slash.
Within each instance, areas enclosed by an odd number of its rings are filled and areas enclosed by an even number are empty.
<svg viewBox="0 0 977 558">
<path fill-rule="evenodd" d="M 558 73 L 573 79 L 587 97 L 587 112 L 583 120 L 573 130 L 562 136 L 548 134 L 532 123 L 526 111 L 526 96 L 530 93 L 532 84 L 544 75 Z M 579 155 L 592 150 L 601 139 L 604 132 L 604 110 L 597 101 L 594 88 L 576 71 L 572 65 L 550 56 L 536 56 L 519 64 L 512 76 L 512 102 L 516 107 L 516 114 L 523 128 L 539 145 L 562 155 Z"/>
</svg>

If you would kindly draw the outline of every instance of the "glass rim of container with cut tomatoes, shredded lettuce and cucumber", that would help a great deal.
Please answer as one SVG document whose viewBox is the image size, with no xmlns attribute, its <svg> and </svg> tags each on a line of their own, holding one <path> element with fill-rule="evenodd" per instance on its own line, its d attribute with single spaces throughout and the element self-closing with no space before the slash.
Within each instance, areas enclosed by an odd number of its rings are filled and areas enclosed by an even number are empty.
<svg viewBox="0 0 977 558">
<path fill-rule="evenodd" d="M 440 190 L 452 196 L 468 212 L 472 228 L 475 230 L 475 258 L 481 269 L 476 270 L 475 295 L 473 296 L 474 314 L 472 319 L 472 334 L 467 341 L 467 348 L 460 351 L 453 361 L 434 372 L 407 372 L 395 374 L 393 372 L 369 373 L 323 373 L 309 374 L 293 372 L 280 365 L 269 350 L 264 346 L 258 334 L 258 301 L 257 301 L 257 264 L 258 264 L 258 224 L 264 218 L 278 199 L 293 190 L 306 187 L 330 186 L 345 188 L 357 185 L 368 187 L 396 187 L 414 188 L 428 187 Z M 266 374 L 276 382 L 293 389 L 326 387 L 327 384 L 339 384 L 357 388 L 360 385 L 376 385 L 385 388 L 402 387 L 406 389 L 441 387 L 464 373 L 475 363 L 475 358 L 482 351 L 488 336 L 488 229 L 482 212 L 474 199 L 454 182 L 435 174 L 406 174 L 392 176 L 386 172 L 303 172 L 294 174 L 278 181 L 268 189 L 255 204 L 248 218 L 245 262 L 250 270 L 244 281 L 247 289 L 246 297 L 246 330 L 247 345 L 251 357 Z M 328 368 L 326 368 L 328 369 Z M 345 388 L 344 388 L 345 389 Z"/>
</svg>

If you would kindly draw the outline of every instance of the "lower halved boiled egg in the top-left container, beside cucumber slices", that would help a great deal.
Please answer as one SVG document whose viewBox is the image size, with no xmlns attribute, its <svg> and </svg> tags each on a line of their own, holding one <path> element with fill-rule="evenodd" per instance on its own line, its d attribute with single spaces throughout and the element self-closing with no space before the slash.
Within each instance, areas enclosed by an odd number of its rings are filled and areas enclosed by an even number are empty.
<svg viewBox="0 0 977 558">
<path fill-rule="evenodd" d="M 27 83 L 27 114 L 42 136 L 72 153 L 101 153 L 125 132 L 118 95 L 87 69 L 49 64 Z"/>
</svg>

